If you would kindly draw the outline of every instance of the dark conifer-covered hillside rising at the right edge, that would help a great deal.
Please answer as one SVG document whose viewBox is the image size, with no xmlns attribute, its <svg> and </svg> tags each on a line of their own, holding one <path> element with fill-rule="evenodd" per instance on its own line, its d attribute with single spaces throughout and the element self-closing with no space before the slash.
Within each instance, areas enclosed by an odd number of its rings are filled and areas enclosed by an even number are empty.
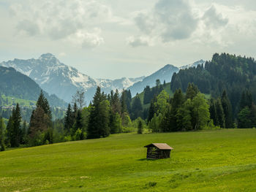
<svg viewBox="0 0 256 192">
<path fill-rule="evenodd" d="M 241 110 L 239 108 L 243 92 L 249 91 L 252 101 L 256 101 L 255 59 L 216 53 L 204 67 L 201 65 L 174 73 L 170 87 L 172 91 L 177 88 L 186 91 L 189 82 L 197 85 L 202 93 L 209 93 L 215 99 L 222 96 L 223 91 L 227 91 L 233 115 L 236 117 Z"/>
</svg>

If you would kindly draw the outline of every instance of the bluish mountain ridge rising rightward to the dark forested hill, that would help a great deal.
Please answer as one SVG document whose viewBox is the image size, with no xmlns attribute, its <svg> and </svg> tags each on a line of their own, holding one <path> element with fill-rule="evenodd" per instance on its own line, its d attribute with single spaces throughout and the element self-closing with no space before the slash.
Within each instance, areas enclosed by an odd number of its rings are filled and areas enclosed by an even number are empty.
<svg viewBox="0 0 256 192">
<path fill-rule="evenodd" d="M 154 72 L 153 74 L 149 75 L 148 77 L 145 77 L 140 82 L 135 82 L 134 85 L 130 86 L 128 89 L 131 91 L 132 96 L 135 96 L 136 93 L 141 93 L 144 88 L 146 88 L 147 85 L 150 87 L 153 87 L 156 85 L 156 80 L 159 79 L 161 82 L 170 82 L 173 74 L 175 72 L 178 72 L 180 69 L 187 69 L 189 67 L 195 67 L 200 64 L 205 64 L 206 61 L 203 61 L 202 59 L 200 61 L 196 61 L 193 64 L 189 64 L 186 66 L 176 67 L 170 64 L 167 64 L 162 69 L 159 69 L 157 72 Z"/>
</svg>

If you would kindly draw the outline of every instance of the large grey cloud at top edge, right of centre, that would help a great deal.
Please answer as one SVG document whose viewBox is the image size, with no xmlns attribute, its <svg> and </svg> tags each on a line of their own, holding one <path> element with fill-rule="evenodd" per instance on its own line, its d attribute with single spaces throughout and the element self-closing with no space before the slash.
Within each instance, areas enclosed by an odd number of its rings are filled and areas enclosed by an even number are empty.
<svg viewBox="0 0 256 192">
<path fill-rule="evenodd" d="M 141 32 L 162 42 L 187 39 L 197 28 L 197 18 L 184 0 L 159 0 L 153 9 L 137 12 L 135 23 Z"/>
</svg>

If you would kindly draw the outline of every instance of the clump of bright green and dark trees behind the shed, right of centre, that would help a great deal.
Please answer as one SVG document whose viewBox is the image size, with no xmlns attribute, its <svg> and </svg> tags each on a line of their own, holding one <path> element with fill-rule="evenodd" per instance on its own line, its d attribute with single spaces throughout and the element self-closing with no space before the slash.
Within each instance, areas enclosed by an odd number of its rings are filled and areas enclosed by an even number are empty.
<svg viewBox="0 0 256 192">
<path fill-rule="evenodd" d="M 171 99 L 162 91 L 151 101 L 148 113 L 148 128 L 153 132 L 200 130 L 207 128 L 210 122 L 208 102 L 192 84 L 186 95 L 178 89 Z"/>
</svg>

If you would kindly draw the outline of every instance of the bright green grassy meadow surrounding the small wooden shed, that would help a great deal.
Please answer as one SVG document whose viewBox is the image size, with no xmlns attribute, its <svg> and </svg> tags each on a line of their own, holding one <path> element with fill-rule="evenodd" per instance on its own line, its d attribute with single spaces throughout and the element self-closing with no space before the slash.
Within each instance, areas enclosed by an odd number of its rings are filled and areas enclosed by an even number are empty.
<svg viewBox="0 0 256 192">
<path fill-rule="evenodd" d="M 171 158 L 146 160 L 151 142 Z M 256 191 L 256 129 L 116 134 L 0 153 L 0 191 Z"/>
</svg>

